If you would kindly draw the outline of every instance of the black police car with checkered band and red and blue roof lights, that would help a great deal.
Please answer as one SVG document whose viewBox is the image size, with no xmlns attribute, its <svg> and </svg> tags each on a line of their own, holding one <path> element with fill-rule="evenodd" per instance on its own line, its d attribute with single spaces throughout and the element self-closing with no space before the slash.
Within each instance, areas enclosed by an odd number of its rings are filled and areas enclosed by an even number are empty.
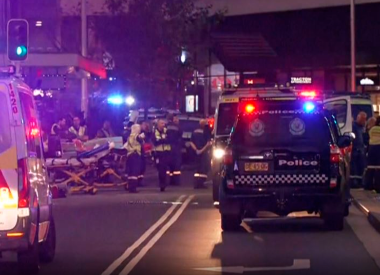
<svg viewBox="0 0 380 275">
<path fill-rule="evenodd" d="M 223 230 L 238 229 L 258 211 L 320 213 L 329 228 L 342 230 L 348 209 L 343 150 L 351 139 L 305 95 L 239 100 L 219 186 Z"/>
</svg>

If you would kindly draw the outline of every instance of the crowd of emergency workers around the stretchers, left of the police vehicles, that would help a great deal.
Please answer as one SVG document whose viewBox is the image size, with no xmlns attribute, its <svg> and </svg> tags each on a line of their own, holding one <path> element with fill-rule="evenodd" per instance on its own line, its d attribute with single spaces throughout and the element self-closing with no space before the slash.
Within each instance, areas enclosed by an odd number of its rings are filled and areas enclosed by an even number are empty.
<svg viewBox="0 0 380 275">
<path fill-rule="evenodd" d="M 128 191 L 137 192 L 143 186 L 146 170 L 146 145 L 153 145 L 152 156 L 158 170 L 159 188 L 164 192 L 168 185 L 181 184 L 183 131 L 179 119 L 168 114 L 166 119 L 137 123 L 138 114 L 133 113 L 123 133 L 123 148 L 127 150 L 126 175 Z M 52 136 L 61 140 L 86 142 L 89 134 L 79 116 L 74 116 L 70 125 L 65 117 L 58 119 L 51 128 Z M 95 138 L 115 137 L 111 122 L 105 120 Z M 191 135 L 190 148 L 193 150 L 197 165 L 194 174 L 194 188 L 205 188 L 210 164 L 211 129 L 206 119 L 200 120 L 199 128 Z"/>
</svg>

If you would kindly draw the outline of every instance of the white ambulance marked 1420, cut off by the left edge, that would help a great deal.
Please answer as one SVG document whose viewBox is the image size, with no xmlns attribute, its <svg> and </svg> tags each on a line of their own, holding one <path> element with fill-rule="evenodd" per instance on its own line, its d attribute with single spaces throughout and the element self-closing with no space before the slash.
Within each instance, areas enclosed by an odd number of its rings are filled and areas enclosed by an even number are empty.
<svg viewBox="0 0 380 275">
<path fill-rule="evenodd" d="M 33 274 L 53 260 L 56 233 L 36 104 L 12 70 L 0 73 L 0 254 Z"/>
</svg>

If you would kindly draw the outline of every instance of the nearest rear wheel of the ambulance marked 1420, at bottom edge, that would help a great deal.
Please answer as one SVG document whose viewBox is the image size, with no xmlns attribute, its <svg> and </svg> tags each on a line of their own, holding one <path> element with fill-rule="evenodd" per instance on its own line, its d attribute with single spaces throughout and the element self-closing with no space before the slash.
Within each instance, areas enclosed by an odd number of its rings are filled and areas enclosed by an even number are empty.
<svg viewBox="0 0 380 275">
<path fill-rule="evenodd" d="M 17 254 L 19 268 L 22 275 L 38 274 L 39 272 L 39 243 L 38 243 L 38 221 L 36 236 L 33 244 L 29 246 L 28 250 L 19 252 Z"/>
</svg>

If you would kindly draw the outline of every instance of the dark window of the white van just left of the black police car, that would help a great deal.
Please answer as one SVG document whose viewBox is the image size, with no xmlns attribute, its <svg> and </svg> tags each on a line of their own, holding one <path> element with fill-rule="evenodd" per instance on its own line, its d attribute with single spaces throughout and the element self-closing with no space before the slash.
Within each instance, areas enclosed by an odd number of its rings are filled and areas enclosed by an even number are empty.
<svg viewBox="0 0 380 275">
<path fill-rule="evenodd" d="M 237 116 L 237 103 L 223 103 L 218 109 L 217 135 L 229 135 Z"/>
</svg>

